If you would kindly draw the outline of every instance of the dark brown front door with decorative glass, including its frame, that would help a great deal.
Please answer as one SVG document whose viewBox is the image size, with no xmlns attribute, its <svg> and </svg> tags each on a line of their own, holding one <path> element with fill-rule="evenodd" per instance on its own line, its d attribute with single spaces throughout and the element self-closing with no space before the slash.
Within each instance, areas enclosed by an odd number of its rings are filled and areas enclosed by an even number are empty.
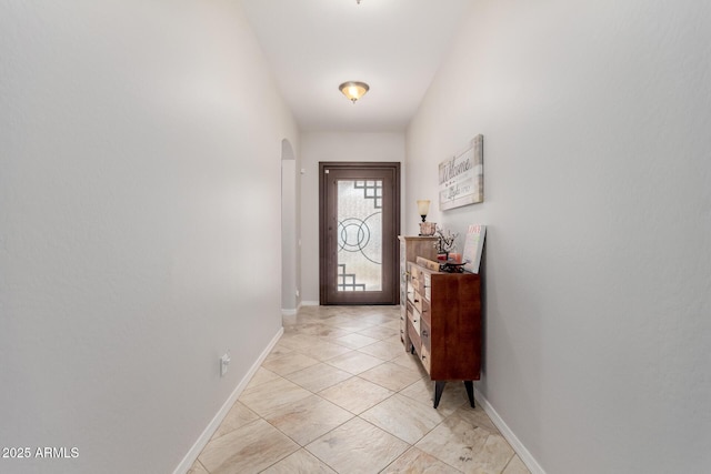
<svg viewBox="0 0 711 474">
<path fill-rule="evenodd" d="M 400 163 L 321 162 L 321 304 L 398 304 Z"/>
</svg>

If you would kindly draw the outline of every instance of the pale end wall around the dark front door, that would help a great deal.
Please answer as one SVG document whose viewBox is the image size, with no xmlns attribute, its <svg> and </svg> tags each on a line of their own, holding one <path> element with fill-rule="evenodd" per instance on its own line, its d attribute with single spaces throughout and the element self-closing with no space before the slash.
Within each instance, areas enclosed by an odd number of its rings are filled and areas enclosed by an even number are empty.
<svg viewBox="0 0 711 474">
<path fill-rule="evenodd" d="M 308 132 L 301 135 L 300 158 L 304 170 L 301 175 L 301 295 L 304 303 L 318 304 L 319 162 L 403 162 L 404 133 Z M 401 173 L 404 173 L 404 165 L 401 165 Z M 402 184 L 401 189 L 404 189 L 404 181 Z M 402 213 L 405 212 L 403 208 Z"/>
</svg>

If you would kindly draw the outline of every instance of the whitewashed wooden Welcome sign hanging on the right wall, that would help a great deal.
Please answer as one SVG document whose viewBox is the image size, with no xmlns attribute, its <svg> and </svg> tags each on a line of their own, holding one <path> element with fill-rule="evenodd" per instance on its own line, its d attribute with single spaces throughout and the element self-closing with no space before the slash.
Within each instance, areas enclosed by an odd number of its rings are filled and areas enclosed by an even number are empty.
<svg viewBox="0 0 711 474">
<path fill-rule="evenodd" d="M 440 163 L 440 211 L 484 201 L 484 137 Z"/>
</svg>

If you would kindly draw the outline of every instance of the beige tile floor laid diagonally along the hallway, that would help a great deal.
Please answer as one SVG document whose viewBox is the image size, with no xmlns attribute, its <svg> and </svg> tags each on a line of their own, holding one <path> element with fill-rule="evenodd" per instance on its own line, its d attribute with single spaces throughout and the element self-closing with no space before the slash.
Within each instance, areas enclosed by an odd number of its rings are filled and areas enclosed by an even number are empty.
<svg viewBox="0 0 711 474">
<path fill-rule="evenodd" d="M 189 471 L 529 473 L 487 414 L 433 383 L 400 342 L 399 306 L 306 306 Z"/>
</svg>

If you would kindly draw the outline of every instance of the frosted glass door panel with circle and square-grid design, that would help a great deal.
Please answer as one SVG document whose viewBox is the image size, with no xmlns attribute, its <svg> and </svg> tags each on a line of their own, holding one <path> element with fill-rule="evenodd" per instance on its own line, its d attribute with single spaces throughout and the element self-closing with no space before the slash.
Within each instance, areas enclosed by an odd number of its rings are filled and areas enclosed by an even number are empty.
<svg viewBox="0 0 711 474">
<path fill-rule="evenodd" d="M 338 181 L 337 291 L 382 290 L 382 180 Z"/>
</svg>

